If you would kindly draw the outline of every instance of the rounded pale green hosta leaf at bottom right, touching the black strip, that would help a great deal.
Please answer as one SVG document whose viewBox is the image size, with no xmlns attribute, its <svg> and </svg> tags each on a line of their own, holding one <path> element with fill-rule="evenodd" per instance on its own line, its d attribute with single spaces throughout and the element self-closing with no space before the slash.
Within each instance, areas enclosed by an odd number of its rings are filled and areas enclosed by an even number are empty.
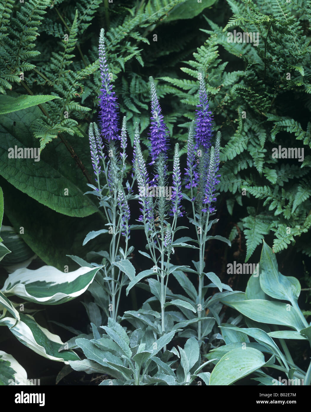
<svg viewBox="0 0 311 412">
<path fill-rule="evenodd" d="M 245 349 L 233 349 L 226 353 L 217 363 L 210 374 L 211 385 L 231 385 L 239 379 L 250 375 L 255 370 L 270 364 L 274 360 L 274 355 L 268 362 L 264 360 L 264 355 L 250 347 Z"/>
</svg>

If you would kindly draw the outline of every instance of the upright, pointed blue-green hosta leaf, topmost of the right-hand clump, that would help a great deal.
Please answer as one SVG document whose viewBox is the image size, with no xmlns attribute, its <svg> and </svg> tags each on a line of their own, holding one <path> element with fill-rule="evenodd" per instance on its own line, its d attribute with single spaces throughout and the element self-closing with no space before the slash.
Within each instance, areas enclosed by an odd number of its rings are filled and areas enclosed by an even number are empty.
<svg viewBox="0 0 311 412">
<path fill-rule="evenodd" d="M 260 286 L 264 293 L 275 299 L 297 302 L 301 286 L 293 276 L 283 276 L 278 271 L 276 255 L 264 242 L 260 258 Z"/>
</svg>

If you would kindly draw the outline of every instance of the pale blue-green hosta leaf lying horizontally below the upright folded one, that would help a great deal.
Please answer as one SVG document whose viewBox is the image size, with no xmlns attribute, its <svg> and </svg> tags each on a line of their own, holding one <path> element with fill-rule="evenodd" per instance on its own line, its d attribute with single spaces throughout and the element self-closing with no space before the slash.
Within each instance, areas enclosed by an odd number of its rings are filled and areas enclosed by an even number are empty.
<svg viewBox="0 0 311 412">
<path fill-rule="evenodd" d="M 290 304 L 253 299 L 231 302 L 231 306 L 241 314 L 257 322 L 290 326 L 298 331 L 304 328 L 304 324 Z"/>
</svg>

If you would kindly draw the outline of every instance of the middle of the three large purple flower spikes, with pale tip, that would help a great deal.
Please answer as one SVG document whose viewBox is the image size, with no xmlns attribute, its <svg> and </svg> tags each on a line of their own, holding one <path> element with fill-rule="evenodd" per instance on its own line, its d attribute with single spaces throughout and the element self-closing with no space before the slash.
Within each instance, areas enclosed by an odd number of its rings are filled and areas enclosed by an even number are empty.
<svg viewBox="0 0 311 412">
<path fill-rule="evenodd" d="M 149 133 L 149 139 L 151 143 L 150 155 L 152 157 L 151 164 L 154 164 L 160 153 L 163 153 L 164 158 L 167 159 L 167 139 L 169 135 L 166 124 L 163 121 L 163 115 L 161 114 L 161 108 L 159 105 L 159 98 L 157 96 L 157 89 L 152 77 L 149 77 L 149 86 L 151 98 L 151 126 Z"/>
</svg>

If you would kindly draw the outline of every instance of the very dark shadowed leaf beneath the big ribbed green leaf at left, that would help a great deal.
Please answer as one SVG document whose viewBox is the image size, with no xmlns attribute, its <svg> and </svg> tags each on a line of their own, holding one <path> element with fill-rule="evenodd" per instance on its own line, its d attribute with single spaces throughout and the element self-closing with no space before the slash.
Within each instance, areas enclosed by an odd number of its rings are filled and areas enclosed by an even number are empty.
<svg viewBox="0 0 311 412">
<path fill-rule="evenodd" d="M 46 147 L 44 151 L 47 150 Z M 107 248 L 110 236 L 105 234 L 100 241 L 90 241 L 86 246 L 82 246 L 83 239 L 90 229 L 103 227 L 105 224 L 99 213 L 85 218 L 62 215 L 20 192 L 1 176 L 0 185 L 5 198 L 5 215 L 17 233 L 20 232 L 21 226 L 23 227 L 22 240 L 47 265 L 55 266 L 61 271 L 64 270 L 65 265 L 68 265 L 71 271 L 78 265 L 66 257 L 68 250 L 70 255 L 85 258 L 91 250 L 99 251 Z"/>
</svg>

